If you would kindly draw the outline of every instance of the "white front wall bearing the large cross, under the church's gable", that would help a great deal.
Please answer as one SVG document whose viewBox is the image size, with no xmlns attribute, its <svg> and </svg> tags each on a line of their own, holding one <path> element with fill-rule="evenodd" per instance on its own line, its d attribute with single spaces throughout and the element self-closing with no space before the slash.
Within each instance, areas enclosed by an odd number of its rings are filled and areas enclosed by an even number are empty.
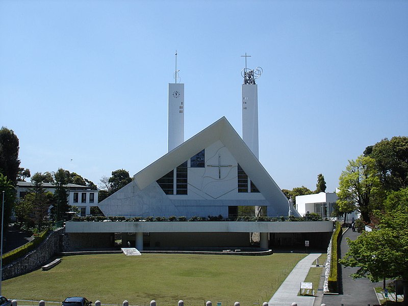
<svg viewBox="0 0 408 306">
<path fill-rule="evenodd" d="M 197 152 L 198 153 L 198 152 Z M 210 167 L 220 164 L 231 167 Z M 188 159 L 188 194 L 166 195 L 154 182 L 140 190 L 135 181 L 114 193 L 99 208 L 105 216 L 228 216 L 228 206 L 267 206 L 269 216 L 275 211 L 262 193 L 238 192 L 238 163 L 221 141 L 205 149 L 205 167 L 191 168 Z"/>
</svg>

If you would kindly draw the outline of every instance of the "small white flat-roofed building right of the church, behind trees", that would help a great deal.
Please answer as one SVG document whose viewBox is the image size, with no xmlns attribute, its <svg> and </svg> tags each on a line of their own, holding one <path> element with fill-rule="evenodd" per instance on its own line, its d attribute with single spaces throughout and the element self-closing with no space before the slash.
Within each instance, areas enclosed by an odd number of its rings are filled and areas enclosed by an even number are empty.
<svg viewBox="0 0 408 306">
<path fill-rule="evenodd" d="M 317 213 L 322 218 L 331 218 L 338 196 L 335 192 L 320 192 L 316 194 L 299 195 L 296 197 L 296 210 L 301 216 L 307 213 Z"/>
</svg>

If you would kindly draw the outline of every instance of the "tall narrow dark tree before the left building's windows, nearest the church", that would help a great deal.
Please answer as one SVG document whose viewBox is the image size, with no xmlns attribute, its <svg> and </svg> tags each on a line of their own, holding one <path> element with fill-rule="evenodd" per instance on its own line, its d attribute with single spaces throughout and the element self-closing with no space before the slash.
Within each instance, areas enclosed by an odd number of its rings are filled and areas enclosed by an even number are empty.
<svg viewBox="0 0 408 306">
<path fill-rule="evenodd" d="M 69 171 L 64 169 L 58 169 L 54 173 L 55 179 L 55 192 L 54 192 L 54 203 L 51 209 L 55 221 L 63 220 L 63 217 L 69 211 L 68 205 L 68 190 L 65 187 L 68 183 Z"/>
</svg>

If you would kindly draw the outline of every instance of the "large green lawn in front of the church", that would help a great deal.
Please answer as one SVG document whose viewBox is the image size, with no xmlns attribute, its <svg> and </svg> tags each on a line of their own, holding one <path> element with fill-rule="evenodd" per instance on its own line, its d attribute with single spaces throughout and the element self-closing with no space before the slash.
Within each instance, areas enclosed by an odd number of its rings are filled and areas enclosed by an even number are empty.
<svg viewBox="0 0 408 306">
<path fill-rule="evenodd" d="M 103 304 L 158 306 L 252 305 L 268 301 L 305 254 L 270 256 L 190 254 L 100 254 L 64 257 L 48 271 L 41 269 L 3 282 L 9 299 L 62 301 L 85 296 Z"/>
</svg>

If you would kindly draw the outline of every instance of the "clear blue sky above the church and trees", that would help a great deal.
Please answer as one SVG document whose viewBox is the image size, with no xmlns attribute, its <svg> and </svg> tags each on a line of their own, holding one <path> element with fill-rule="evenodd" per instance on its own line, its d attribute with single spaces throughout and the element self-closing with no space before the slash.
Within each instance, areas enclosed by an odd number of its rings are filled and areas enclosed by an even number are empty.
<svg viewBox="0 0 408 306">
<path fill-rule="evenodd" d="M 0 1 L 0 125 L 31 173 L 99 183 L 167 152 L 174 53 L 185 139 L 258 80 L 260 161 L 281 188 L 334 191 L 347 160 L 408 135 L 407 1 Z"/>
</svg>

